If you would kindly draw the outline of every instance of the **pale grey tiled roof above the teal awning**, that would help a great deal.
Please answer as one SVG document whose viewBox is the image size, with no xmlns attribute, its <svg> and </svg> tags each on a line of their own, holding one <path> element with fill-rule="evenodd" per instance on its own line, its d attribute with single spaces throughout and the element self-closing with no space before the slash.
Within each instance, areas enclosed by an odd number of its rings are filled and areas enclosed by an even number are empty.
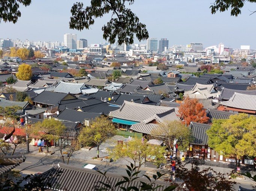
<svg viewBox="0 0 256 191">
<path fill-rule="evenodd" d="M 124 101 L 120 109 L 110 112 L 109 116 L 119 119 L 142 122 L 155 114 L 160 114 L 173 108 L 162 106 L 151 106 L 139 103 Z M 147 111 L 147 112 L 145 112 Z"/>
</svg>

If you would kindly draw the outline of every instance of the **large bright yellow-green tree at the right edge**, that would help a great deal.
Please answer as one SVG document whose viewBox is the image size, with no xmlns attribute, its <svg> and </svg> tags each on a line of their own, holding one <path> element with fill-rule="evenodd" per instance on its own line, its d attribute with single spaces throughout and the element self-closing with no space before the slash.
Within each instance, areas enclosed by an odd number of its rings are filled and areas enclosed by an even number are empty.
<svg viewBox="0 0 256 191">
<path fill-rule="evenodd" d="M 219 154 L 235 157 L 237 166 L 242 157 L 256 156 L 255 116 L 240 113 L 229 119 L 213 120 L 207 135 L 208 145 Z"/>
</svg>

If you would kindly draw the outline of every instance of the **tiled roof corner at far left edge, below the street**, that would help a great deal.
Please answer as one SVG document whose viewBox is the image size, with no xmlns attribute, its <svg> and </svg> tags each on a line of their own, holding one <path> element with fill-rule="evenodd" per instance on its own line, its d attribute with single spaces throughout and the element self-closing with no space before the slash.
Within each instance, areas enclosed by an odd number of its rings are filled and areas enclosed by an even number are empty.
<svg viewBox="0 0 256 191">
<path fill-rule="evenodd" d="M 1 165 L 0 165 L 0 175 L 9 172 L 20 163 L 24 162 L 26 157 L 23 154 L 12 155 L 12 156 L 3 156 L 1 157 Z"/>
</svg>

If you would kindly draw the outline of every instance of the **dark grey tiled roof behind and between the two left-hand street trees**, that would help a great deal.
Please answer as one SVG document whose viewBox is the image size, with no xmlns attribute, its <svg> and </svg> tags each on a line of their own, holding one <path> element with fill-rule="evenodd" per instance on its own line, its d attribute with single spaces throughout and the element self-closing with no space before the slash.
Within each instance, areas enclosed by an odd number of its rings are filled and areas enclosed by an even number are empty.
<svg viewBox="0 0 256 191">
<path fill-rule="evenodd" d="M 60 112 L 56 118 L 64 121 L 84 123 L 84 120 L 94 120 L 96 117 L 100 117 L 101 115 L 102 113 L 80 112 L 66 108 Z"/>
</svg>

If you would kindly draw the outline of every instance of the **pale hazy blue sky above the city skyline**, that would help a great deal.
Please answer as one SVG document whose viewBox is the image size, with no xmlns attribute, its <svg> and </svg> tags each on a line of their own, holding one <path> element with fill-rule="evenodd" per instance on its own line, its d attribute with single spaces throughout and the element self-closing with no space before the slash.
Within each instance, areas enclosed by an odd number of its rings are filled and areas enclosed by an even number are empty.
<svg viewBox="0 0 256 191">
<path fill-rule="evenodd" d="M 0 38 L 26 38 L 30 41 L 63 41 L 64 33 L 76 33 L 88 44 L 103 42 L 102 26 L 109 16 L 97 19 L 90 30 L 69 29 L 70 9 L 76 1 L 33 0 L 28 7 L 21 7 L 21 18 L 16 24 L 0 23 Z M 135 0 L 131 9 L 146 24 L 150 37 L 168 38 L 174 44 L 203 43 L 204 47 L 217 45 L 256 48 L 256 3 L 247 3 L 238 17 L 230 12 L 211 15 L 214 0 Z M 90 0 L 83 1 L 89 5 Z M 139 43 L 135 39 L 135 43 Z M 145 42 L 142 42 L 145 43 Z"/>
</svg>

